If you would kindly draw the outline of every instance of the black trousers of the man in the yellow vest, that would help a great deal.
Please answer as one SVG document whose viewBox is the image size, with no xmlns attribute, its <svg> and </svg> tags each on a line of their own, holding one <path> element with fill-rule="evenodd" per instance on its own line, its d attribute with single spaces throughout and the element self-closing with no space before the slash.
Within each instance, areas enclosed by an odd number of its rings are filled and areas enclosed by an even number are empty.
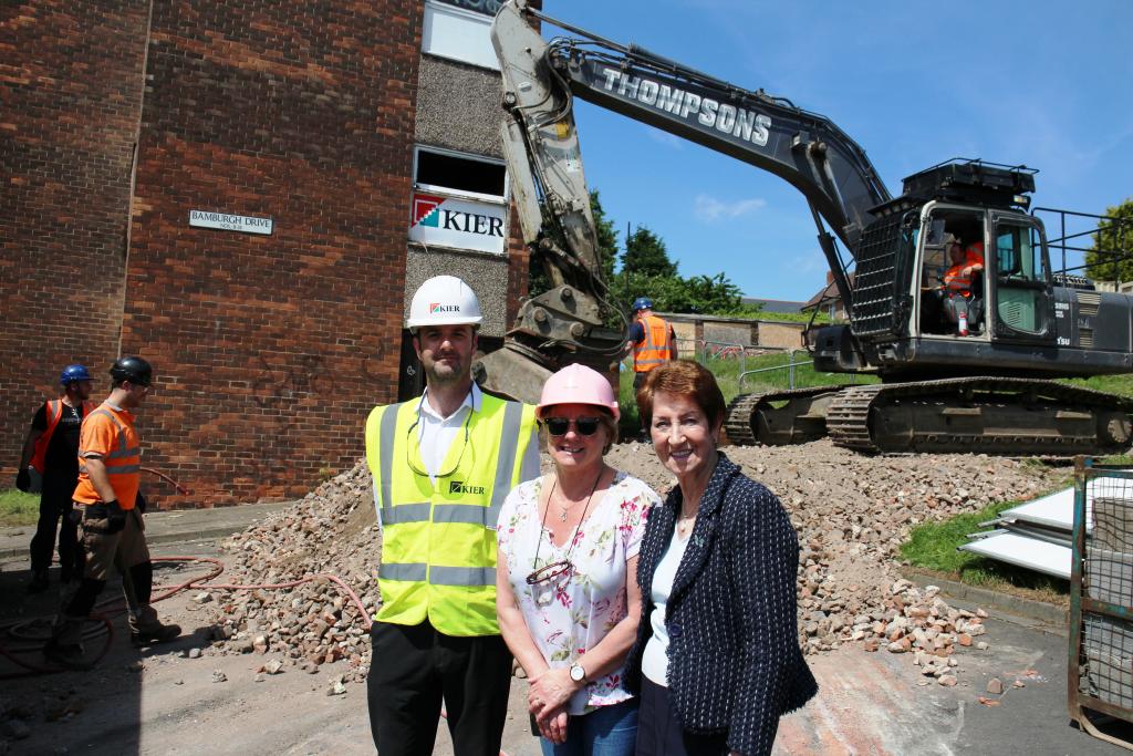
<svg viewBox="0 0 1133 756">
<path fill-rule="evenodd" d="M 448 636 L 427 620 L 374 622 L 369 637 L 369 729 L 380 756 L 431 756 L 442 699 L 455 756 L 499 756 L 511 689 L 503 638 Z"/>
</svg>

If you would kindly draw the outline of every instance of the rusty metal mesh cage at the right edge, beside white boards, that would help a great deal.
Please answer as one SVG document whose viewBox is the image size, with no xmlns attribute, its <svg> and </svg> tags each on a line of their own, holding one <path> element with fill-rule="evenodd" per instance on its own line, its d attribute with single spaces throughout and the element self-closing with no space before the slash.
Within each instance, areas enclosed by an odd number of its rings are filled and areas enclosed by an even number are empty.
<svg viewBox="0 0 1133 756">
<path fill-rule="evenodd" d="M 1079 458 L 1074 473 L 1070 716 L 1133 749 L 1099 729 L 1107 716 L 1133 723 L 1133 472 Z"/>
</svg>

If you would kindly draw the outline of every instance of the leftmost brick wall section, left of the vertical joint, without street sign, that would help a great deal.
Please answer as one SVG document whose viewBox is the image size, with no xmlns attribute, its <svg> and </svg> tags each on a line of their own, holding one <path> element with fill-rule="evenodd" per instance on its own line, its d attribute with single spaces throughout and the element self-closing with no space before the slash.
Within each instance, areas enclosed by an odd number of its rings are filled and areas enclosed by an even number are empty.
<svg viewBox="0 0 1133 756">
<path fill-rule="evenodd" d="M 148 2 L 0 8 L 0 469 L 36 406 L 118 354 Z M 82 65 L 79 65 L 82 63 Z"/>
</svg>

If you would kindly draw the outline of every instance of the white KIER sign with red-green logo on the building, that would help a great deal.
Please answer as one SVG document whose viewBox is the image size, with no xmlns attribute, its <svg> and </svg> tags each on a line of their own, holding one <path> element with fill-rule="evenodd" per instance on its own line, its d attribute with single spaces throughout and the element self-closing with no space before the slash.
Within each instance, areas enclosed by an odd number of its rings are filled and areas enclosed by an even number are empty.
<svg viewBox="0 0 1133 756">
<path fill-rule="evenodd" d="M 409 240 L 502 255 L 506 212 L 502 204 L 415 192 Z"/>
</svg>

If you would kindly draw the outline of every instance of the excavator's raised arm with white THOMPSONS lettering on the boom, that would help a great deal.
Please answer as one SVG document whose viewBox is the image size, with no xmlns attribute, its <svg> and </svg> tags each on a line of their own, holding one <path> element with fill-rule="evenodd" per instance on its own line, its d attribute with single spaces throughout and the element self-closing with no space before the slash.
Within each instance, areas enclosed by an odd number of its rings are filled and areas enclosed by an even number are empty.
<svg viewBox="0 0 1133 756">
<path fill-rule="evenodd" d="M 540 20 L 573 36 L 548 42 Z M 616 357 L 622 346 L 620 334 L 602 328 L 605 283 L 574 127 L 576 96 L 798 188 L 843 301 L 852 307 L 850 264 L 826 228 L 852 257 L 870 211 L 891 197 L 864 151 L 827 118 L 557 22 L 527 0 L 503 5 L 492 43 L 503 77 L 502 139 L 520 227 L 554 288 L 527 300 L 505 349 L 482 360 L 478 377 L 486 388 L 530 400 L 566 358 Z M 531 363 L 539 369 L 533 372 Z"/>
</svg>

